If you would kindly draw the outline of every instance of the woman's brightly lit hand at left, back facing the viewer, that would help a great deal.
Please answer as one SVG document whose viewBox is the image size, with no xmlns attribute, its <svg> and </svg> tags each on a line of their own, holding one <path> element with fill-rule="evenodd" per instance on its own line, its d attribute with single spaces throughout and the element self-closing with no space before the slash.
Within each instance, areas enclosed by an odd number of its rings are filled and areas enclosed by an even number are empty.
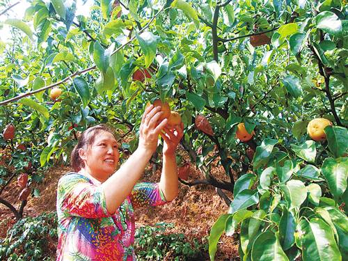
<svg viewBox="0 0 348 261">
<path fill-rule="evenodd" d="M 156 151 L 158 136 L 168 122 L 167 119 L 164 119 L 157 124 L 162 113 L 161 106 L 154 107 L 150 104 L 146 107 L 139 129 L 139 148 L 148 150 L 151 153 Z"/>
</svg>

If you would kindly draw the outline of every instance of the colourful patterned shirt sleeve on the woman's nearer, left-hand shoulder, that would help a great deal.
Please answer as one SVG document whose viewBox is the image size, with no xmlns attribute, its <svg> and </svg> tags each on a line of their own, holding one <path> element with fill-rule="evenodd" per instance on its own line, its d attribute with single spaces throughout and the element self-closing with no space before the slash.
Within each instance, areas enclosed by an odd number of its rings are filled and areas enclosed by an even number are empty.
<svg viewBox="0 0 348 261">
<path fill-rule="evenodd" d="M 100 218 L 111 216 L 106 209 L 102 187 L 91 184 L 79 173 L 68 173 L 58 182 L 57 203 L 63 214 Z"/>
</svg>

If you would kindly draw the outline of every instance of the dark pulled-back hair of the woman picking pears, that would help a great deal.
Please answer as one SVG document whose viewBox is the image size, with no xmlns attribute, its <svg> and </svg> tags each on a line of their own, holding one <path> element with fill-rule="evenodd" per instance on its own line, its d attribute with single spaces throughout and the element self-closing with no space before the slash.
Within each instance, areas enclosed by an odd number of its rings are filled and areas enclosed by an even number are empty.
<svg viewBox="0 0 348 261">
<path fill-rule="evenodd" d="M 75 145 L 70 156 L 70 166 L 73 171 L 79 172 L 81 168 L 84 167 L 84 161 L 82 161 L 79 155 L 79 149 L 83 148 L 84 150 L 87 150 L 88 145 L 93 144 L 95 137 L 97 134 L 100 134 L 100 132 L 110 132 L 113 134 L 113 129 L 105 124 L 100 124 L 90 127 L 81 133 L 79 141 L 77 142 L 77 145 Z"/>
</svg>

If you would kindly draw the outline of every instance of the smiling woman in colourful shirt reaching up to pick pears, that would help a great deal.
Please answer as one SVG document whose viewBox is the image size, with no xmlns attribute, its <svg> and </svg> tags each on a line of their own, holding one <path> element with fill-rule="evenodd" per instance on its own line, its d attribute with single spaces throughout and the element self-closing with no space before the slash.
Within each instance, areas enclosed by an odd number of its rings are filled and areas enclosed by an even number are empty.
<svg viewBox="0 0 348 261">
<path fill-rule="evenodd" d="M 134 207 L 163 205 L 177 196 L 175 149 L 183 125 L 168 129 L 167 119 L 159 122 L 161 114 L 160 106 L 145 109 L 138 148 L 118 171 L 118 144 L 110 129 L 97 125 L 81 134 L 71 156 L 74 172 L 58 182 L 57 260 L 135 260 Z M 159 135 L 161 179 L 137 183 Z"/>
</svg>

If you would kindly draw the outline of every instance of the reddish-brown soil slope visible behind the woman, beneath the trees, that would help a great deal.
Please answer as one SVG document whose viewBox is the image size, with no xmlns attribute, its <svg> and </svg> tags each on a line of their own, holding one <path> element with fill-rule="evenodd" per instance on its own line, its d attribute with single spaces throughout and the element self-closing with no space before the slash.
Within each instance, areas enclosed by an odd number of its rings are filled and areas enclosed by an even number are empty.
<svg viewBox="0 0 348 261">
<path fill-rule="evenodd" d="M 29 196 L 24 209 L 24 216 L 37 216 L 45 211 L 56 210 L 56 187 L 59 178 L 69 171 L 68 167 L 54 167 L 45 173 L 42 183 L 36 184 L 40 197 Z M 212 174 L 223 180 L 226 175 L 221 168 L 214 168 Z M 142 178 L 143 181 L 158 182 L 160 171 L 152 173 L 149 166 Z M 203 175 L 193 166 L 190 168 L 190 179 L 203 179 Z M 18 209 L 17 197 L 20 189 L 15 180 L 2 193 L 2 198 L 14 203 Z M 228 195 L 230 196 L 230 195 Z M 159 207 L 143 207 L 135 210 L 136 226 L 155 225 L 157 222 L 174 223 L 175 228 L 168 232 L 184 233 L 189 241 L 193 238 L 203 239 L 208 236 L 210 228 L 221 214 L 226 214 L 228 206 L 216 194 L 214 187 L 198 185 L 188 187 L 180 184 L 180 193 L 173 202 Z M 0 238 L 6 237 L 6 231 L 15 223 L 12 212 L 0 205 Z M 207 255 L 207 259 L 208 255 Z M 238 244 L 233 237 L 223 235 L 218 244 L 215 260 L 239 260 Z"/>
</svg>

